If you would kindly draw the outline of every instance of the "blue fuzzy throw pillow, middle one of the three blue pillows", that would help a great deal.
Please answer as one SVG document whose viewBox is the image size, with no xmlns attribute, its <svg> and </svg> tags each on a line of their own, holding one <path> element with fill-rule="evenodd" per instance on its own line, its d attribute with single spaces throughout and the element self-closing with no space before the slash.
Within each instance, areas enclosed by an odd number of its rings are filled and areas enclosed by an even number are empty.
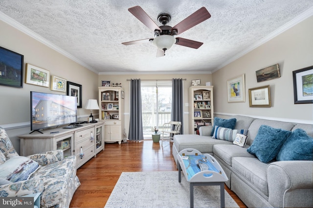
<svg viewBox="0 0 313 208">
<path fill-rule="evenodd" d="M 261 162 L 268 163 L 277 156 L 290 134 L 287 130 L 262 125 L 246 151 L 255 155 Z"/>
</svg>

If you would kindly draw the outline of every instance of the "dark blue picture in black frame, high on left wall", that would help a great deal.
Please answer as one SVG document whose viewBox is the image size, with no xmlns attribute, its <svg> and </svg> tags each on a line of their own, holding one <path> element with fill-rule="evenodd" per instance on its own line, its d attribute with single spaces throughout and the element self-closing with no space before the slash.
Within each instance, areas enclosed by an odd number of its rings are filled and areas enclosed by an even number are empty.
<svg viewBox="0 0 313 208">
<path fill-rule="evenodd" d="M 0 47 L 0 85 L 23 87 L 24 56 Z"/>
</svg>

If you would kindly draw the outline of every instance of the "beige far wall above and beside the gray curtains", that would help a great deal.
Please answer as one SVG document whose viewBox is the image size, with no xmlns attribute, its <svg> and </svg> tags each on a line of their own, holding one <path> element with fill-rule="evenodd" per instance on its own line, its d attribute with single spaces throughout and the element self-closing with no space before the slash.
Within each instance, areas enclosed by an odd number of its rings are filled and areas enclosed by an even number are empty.
<svg viewBox="0 0 313 208">
<path fill-rule="evenodd" d="M 173 79 L 173 78 L 182 78 L 186 79 L 183 81 L 183 92 L 184 92 L 184 133 L 188 132 L 188 107 L 185 106 L 185 103 L 188 103 L 188 88 L 191 86 L 191 80 L 201 79 L 201 85 L 205 85 L 205 82 L 212 81 L 211 74 L 198 74 L 198 75 L 173 75 L 173 74 L 150 74 L 150 75 L 99 75 L 98 84 L 101 86 L 101 81 L 111 81 L 111 83 L 121 83 L 125 91 L 125 131 L 128 135 L 129 131 L 129 113 L 130 113 L 130 81 L 127 79 Z"/>
</svg>

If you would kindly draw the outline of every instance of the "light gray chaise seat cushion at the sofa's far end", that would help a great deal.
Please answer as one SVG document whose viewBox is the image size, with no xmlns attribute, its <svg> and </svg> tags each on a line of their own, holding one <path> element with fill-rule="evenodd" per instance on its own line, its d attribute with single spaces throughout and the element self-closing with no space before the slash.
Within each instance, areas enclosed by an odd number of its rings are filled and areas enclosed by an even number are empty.
<svg viewBox="0 0 313 208">
<path fill-rule="evenodd" d="M 232 144 L 232 142 L 197 134 L 177 134 L 174 136 L 174 146 L 178 152 L 187 148 L 194 148 L 202 153 L 212 153 L 215 144 Z"/>
</svg>

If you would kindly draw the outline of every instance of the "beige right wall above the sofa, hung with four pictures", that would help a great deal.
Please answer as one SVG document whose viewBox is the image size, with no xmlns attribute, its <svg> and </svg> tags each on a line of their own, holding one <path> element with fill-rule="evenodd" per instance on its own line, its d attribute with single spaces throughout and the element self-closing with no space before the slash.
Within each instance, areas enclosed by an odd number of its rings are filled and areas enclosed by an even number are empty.
<svg viewBox="0 0 313 208">
<path fill-rule="evenodd" d="M 313 104 L 294 104 L 292 71 L 313 65 L 313 17 L 212 74 L 215 113 L 244 114 L 313 123 Z M 255 71 L 279 63 L 281 77 L 257 82 Z M 227 80 L 245 74 L 246 102 L 227 102 Z M 248 89 L 270 85 L 271 107 L 249 107 Z"/>
</svg>

